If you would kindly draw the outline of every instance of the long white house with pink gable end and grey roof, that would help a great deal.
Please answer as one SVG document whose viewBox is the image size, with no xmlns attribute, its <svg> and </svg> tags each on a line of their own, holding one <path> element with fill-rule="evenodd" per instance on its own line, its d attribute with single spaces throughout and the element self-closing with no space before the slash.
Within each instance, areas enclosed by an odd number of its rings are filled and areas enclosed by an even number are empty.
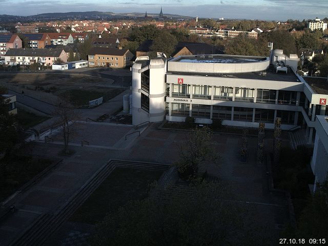
<svg viewBox="0 0 328 246">
<path fill-rule="evenodd" d="M 64 49 L 9 49 L 5 55 L 6 65 L 30 65 L 39 63 L 51 66 L 60 58 L 67 62 L 67 53 Z"/>
</svg>

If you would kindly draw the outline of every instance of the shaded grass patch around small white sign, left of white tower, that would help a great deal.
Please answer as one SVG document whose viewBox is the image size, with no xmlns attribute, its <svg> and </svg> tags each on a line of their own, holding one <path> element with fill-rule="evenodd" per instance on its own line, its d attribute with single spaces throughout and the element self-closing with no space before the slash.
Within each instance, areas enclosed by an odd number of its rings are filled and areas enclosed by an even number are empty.
<svg viewBox="0 0 328 246">
<path fill-rule="evenodd" d="M 108 101 L 119 93 L 123 92 L 122 89 L 101 89 L 101 90 L 68 90 L 60 95 L 69 96 L 71 103 L 75 107 L 88 107 L 89 101 L 97 99 L 101 96 L 104 97 L 104 101 Z"/>
</svg>

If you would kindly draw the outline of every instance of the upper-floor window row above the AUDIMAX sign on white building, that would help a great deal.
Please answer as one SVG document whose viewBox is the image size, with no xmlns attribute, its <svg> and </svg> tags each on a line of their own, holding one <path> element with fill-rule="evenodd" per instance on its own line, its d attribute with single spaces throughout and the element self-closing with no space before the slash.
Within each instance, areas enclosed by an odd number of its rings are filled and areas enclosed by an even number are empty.
<svg viewBox="0 0 328 246">
<path fill-rule="evenodd" d="M 191 90 L 190 85 L 173 85 L 173 97 L 187 97 L 190 98 Z M 233 88 L 224 86 L 193 86 L 193 98 L 211 99 L 213 89 L 213 99 L 215 100 L 232 100 Z M 256 101 L 258 103 L 276 103 L 276 90 L 257 89 Z M 296 105 L 296 91 L 283 91 L 278 92 L 278 104 Z M 252 88 L 235 88 L 236 101 L 251 101 L 255 98 L 255 90 Z"/>
</svg>

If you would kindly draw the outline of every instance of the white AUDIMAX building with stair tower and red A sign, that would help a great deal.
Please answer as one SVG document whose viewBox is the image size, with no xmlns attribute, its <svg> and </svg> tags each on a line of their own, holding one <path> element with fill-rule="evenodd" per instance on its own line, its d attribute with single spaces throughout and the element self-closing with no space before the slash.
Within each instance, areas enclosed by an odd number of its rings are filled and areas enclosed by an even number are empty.
<svg viewBox="0 0 328 246">
<path fill-rule="evenodd" d="M 327 88 L 317 90 L 296 73 L 299 58 L 273 50 L 271 57 L 191 55 L 138 57 L 132 67 L 132 122 L 222 119 L 223 125 L 283 130 L 316 136 L 316 115 L 328 115 Z M 321 179 L 320 179 L 321 181 Z"/>
</svg>

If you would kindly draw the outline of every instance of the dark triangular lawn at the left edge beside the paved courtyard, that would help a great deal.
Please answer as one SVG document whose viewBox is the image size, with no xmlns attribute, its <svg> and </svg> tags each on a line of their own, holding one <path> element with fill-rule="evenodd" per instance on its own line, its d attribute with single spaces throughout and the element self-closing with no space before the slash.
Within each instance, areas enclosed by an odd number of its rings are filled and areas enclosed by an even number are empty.
<svg viewBox="0 0 328 246">
<path fill-rule="evenodd" d="M 52 164 L 51 160 L 11 156 L 0 161 L 0 201 Z"/>
</svg>

